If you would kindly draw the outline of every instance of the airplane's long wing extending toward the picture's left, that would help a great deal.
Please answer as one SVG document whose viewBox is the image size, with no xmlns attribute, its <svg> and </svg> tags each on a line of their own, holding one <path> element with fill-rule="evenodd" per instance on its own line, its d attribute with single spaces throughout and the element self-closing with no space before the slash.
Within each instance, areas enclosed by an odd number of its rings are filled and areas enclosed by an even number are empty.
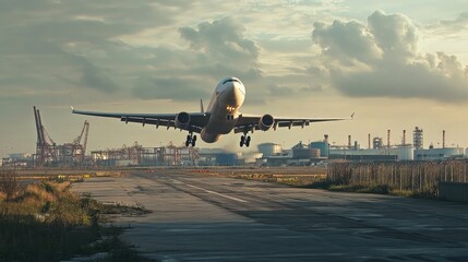
<svg viewBox="0 0 468 262">
<path fill-rule="evenodd" d="M 128 114 L 128 112 L 99 112 L 99 111 L 82 111 L 76 110 L 72 107 L 73 114 L 94 116 L 94 117 L 107 117 L 118 118 L 120 121 L 137 122 L 145 124 L 155 124 L 158 127 L 167 127 L 176 129 L 176 117 L 178 114 Z M 209 120 L 209 114 L 207 112 L 189 112 L 190 126 L 182 128 L 183 130 L 200 133 Z"/>
</svg>

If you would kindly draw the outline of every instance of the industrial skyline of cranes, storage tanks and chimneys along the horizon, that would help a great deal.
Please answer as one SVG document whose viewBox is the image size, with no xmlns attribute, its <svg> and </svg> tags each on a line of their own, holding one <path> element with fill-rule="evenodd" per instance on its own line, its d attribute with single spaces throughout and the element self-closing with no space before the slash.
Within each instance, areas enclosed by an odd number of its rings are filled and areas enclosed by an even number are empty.
<svg viewBox="0 0 468 262">
<path fill-rule="evenodd" d="M 347 145 L 335 145 L 325 134 L 321 141 L 309 144 L 297 143 L 290 150 L 280 144 L 263 143 L 257 152 L 233 153 L 221 148 L 196 148 L 192 146 L 144 147 L 136 142 L 131 146 L 113 150 L 92 151 L 86 156 L 89 123 L 84 122 L 81 133 L 71 143 L 57 144 L 46 131 L 39 110 L 34 107 L 37 143 L 35 154 L 10 154 L 2 159 L 2 166 L 13 167 L 81 167 L 81 166 L 236 166 L 236 165 L 314 165 L 326 162 L 395 162 L 395 160 L 444 160 L 465 158 L 468 152 L 461 147 L 445 146 L 445 130 L 442 147 L 423 148 L 423 130 L 416 127 L 412 144 L 406 141 L 403 131 L 400 143 L 391 143 L 387 130 L 386 143 L 380 136 L 368 134 L 368 146 L 361 148 L 358 141 L 352 143 L 348 135 Z M 468 151 L 468 150 L 467 150 Z"/>
</svg>

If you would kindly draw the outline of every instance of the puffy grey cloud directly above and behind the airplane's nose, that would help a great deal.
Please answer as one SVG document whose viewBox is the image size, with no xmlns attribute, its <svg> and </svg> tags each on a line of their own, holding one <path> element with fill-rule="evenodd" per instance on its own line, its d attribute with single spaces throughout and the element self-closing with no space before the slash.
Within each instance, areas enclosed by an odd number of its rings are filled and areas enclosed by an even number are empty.
<svg viewBox="0 0 468 262">
<path fill-rule="evenodd" d="M 238 76 L 249 84 L 261 83 L 260 48 L 244 36 L 244 31 L 231 17 L 178 28 L 189 47 L 146 48 L 152 58 L 145 63 L 151 69 L 136 73 L 132 95 L 142 99 L 193 100 L 209 98 L 217 82 L 226 76 Z"/>
</svg>

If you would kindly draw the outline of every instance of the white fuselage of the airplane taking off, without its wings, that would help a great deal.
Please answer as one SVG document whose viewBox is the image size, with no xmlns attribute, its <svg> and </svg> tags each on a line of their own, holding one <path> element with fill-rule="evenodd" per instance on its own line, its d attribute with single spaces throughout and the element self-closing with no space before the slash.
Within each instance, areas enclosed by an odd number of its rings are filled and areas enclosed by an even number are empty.
<svg viewBox="0 0 468 262">
<path fill-rule="evenodd" d="M 244 99 L 245 87 L 239 79 L 228 78 L 220 81 L 206 108 L 211 117 L 208 124 L 201 132 L 202 140 L 214 143 L 221 134 L 230 133 L 239 119 L 239 108 Z"/>
</svg>

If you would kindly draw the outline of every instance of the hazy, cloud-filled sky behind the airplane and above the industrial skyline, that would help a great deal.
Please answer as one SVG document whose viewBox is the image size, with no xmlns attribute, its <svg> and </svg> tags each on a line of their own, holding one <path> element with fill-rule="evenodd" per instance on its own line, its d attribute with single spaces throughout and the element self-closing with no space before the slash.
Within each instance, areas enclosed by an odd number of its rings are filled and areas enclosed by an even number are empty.
<svg viewBox="0 0 468 262">
<path fill-rule="evenodd" d="M 290 147 L 324 134 L 424 146 L 468 146 L 466 0 L 191 1 L 0 0 L 0 155 L 34 153 L 33 106 L 58 143 L 89 121 L 89 150 L 182 144 L 187 133 L 83 110 L 200 110 L 226 76 L 241 111 L 352 121 L 255 132 L 252 145 Z M 200 147 L 236 148 L 240 134 Z M 247 150 L 244 150 L 247 151 Z"/>
</svg>

